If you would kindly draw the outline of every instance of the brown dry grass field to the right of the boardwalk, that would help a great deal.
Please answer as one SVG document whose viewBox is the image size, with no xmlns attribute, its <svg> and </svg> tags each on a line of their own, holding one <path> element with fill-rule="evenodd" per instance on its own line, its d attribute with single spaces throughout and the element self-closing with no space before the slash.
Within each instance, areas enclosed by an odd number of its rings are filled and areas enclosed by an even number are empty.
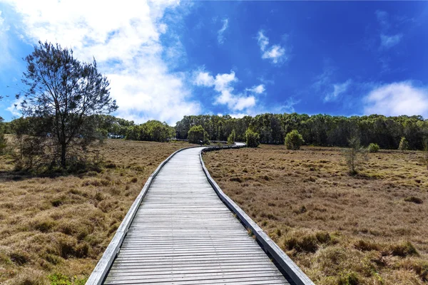
<svg viewBox="0 0 428 285">
<path fill-rule="evenodd" d="M 371 153 L 347 174 L 340 148 L 208 152 L 213 178 L 315 284 L 427 284 L 422 152 Z"/>
</svg>

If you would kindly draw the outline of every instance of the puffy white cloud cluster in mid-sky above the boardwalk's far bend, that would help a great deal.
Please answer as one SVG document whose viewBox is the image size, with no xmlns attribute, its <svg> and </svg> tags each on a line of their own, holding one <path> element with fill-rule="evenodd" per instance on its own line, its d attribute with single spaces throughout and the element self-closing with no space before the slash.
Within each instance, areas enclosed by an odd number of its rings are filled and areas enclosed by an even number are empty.
<svg viewBox="0 0 428 285">
<path fill-rule="evenodd" d="M 247 96 L 234 93 L 232 85 L 238 81 L 234 71 L 223 74 L 219 73 L 215 77 L 211 76 L 208 72 L 198 71 L 194 74 L 194 78 L 193 84 L 195 86 L 214 87 L 214 90 L 218 93 L 217 98 L 215 98 L 216 104 L 227 105 L 233 111 L 241 111 L 255 106 L 256 99 L 254 95 Z M 254 88 L 260 91 L 260 86 L 255 86 Z M 261 88 L 264 90 L 263 85 Z"/>
</svg>

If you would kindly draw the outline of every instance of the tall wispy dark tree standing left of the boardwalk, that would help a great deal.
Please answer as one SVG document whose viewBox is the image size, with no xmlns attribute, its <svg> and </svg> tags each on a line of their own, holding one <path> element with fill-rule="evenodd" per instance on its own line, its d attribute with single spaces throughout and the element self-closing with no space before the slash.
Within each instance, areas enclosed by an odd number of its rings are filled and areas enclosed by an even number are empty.
<svg viewBox="0 0 428 285">
<path fill-rule="evenodd" d="M 26 90 L 16 96 L 24 99 L 21 113 L 35 119 L 29 138 L 41 143 L 40 151 L 48 163 L 64 169 L 98 138 L 91 116 L 118 108 L 110 97 L 110 83 L 98 73 L 95 59 L 81 63 L 72 50 L 58 43 L 39 41 L 24 61 L 26 72 L 21 81 Z"/>
</svg>

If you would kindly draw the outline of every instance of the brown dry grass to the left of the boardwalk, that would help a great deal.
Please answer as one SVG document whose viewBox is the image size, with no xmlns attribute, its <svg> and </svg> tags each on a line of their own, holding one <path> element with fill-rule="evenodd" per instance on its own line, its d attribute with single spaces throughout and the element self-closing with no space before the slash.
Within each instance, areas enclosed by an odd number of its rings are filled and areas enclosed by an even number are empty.
<svg viewBox="0 0 428 285">
<path fill-rule="evenodd" d="M 107 140 L 101 172 L 17 175 L 0 159 L 0 284 L 84 284 L 151 173 L 186 142 Z"/>
</svg>

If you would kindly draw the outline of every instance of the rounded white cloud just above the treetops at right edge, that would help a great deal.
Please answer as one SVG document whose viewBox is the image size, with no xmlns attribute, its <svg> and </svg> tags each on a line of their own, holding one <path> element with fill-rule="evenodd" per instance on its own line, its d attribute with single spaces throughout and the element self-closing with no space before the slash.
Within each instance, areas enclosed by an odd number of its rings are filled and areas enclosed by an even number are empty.
<svg viewBox="0 0 428 285">
<path fill-rule="evenodd" d="M 409 81 L 374 88 L 364 99 L 364 113 L 382 115 L 422 115 L 428 118 L 428 88 Z"/>
</svg>

